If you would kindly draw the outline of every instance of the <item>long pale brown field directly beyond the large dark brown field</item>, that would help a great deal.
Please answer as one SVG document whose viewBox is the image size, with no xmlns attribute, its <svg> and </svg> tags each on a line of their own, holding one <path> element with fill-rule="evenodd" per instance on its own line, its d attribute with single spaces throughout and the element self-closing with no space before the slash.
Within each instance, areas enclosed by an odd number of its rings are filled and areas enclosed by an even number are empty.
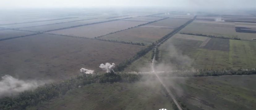
<svg viewBox="0 0 256 110">
<path fill-rule="evenodd" d="M 112 21 L 112 22 L 104 22 L 104 23 L 81 26 L 81 27 L 70 28 L 70 29 L 51 31 L 49 33 L 94 38 L 94 37 L 106 35 L 108 33 L 112 33 L 118 30 L 138 26 L 144 23 L 147 23 L 147 22 Z"/>
</svg>

